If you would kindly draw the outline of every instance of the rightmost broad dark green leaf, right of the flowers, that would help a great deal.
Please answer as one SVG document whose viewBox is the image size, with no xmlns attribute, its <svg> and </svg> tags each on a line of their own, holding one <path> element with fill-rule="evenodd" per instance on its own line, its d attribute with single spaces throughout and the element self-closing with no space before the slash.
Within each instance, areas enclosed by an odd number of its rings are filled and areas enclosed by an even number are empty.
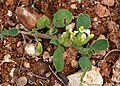
<svg viewBox="0 0 120 86">
<path fill-rule="evenodd" d="M 94 50 L 106 50 L 108 47 L 109 47 L 109 43 L 108 43 L 108 40 L 106 40 L 106 39 L 96 40 L 92 44 L 92 48 Z"/>
</svg>

